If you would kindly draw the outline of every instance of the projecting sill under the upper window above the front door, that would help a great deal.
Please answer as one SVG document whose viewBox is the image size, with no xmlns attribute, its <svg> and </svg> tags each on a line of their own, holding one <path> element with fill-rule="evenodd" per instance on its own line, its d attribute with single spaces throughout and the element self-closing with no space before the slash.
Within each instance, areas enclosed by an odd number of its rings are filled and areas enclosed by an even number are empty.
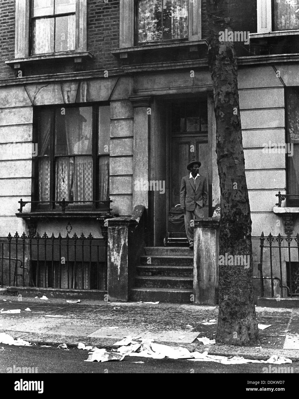
<svg viewBox="0 0 299 399">
<path fill-rule="evenodd" d="M 174 47 L 190 47 L 190 51 L 197 51 L 197 46 L 205 45 L 207 46 L 207 40 L 197 40 L 197 41 L 175 41 L 175 42 L 163 42 L 163 43 L 146 43 L 144 45 L 137 45 L 134 47 L 124 47 L 118 49 L 112 49 L 111 54 L 114 56 L 120 56 L 120 58 L 126 58 L 128 53 L 136 53 L 138 51 L 144 50 L 156 50 L 156 49 L 169 49 Z"/>
</svg>

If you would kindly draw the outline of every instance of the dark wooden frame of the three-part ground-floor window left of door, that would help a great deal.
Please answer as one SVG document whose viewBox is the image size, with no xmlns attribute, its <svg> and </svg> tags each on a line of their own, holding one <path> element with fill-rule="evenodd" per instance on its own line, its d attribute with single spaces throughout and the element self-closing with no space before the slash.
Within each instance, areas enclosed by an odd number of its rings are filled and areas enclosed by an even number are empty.
<svg viewBox="0 0 299 399">
<path fill-rule="evenodd" d="M 83 108 L 83 107 L 92 107 L 92 201 L 103 201 L 106 199 L 100 199 L 100 158 L 110 156 L 110 152 L 101 153 L 99 154 L 98 151 L 98 140 L 99 140 L 99 108 L 104 106 L 110 106 L 108 102 L 103 103 L 75 103 L 75 104 L 60 104 L 60 105 L 53 105 L 53 106 L 45 106 L 39 105 L 35 106 L 33 109 L 33 142 L 36 142 L 39 146 L 38 142 L 38 131 L 37 131 L 37 117 L 42 110 L 50 110 L 51 111 L 51 118 L 53 118 L 53 128 L 52 132 L 50 133 L 50 142 L 49 142 L 49 159 L 50 159 L 50 201 L 57 201 L 56 200 L 56 180 L 55 180 L 55 159 L 57 157 L 61 157 L 64 155 L 57 155 L 55 156 L 55 129 L 56 129 L 56 110 L 60 109 L 61 107 L 67 110 L 68 108 Z M 110 148 L 110 146 L 109 146 Z M 78 156 L 83 156 L 84 154 L 79 154 Z M 65 155 L 65 156 L 76 156 L 76 155 Z M 32 192 L 31 192 L 31 201 L 39 201 L 39 159 L 46 158 L 43 155 L 37 155 L 36 157 L 32 158 L 32 171 L 33 171 L 33 184 L 32 184 Z M 108 187 L 107 187 L 107 197 L 109 197 L 109 174 L 108 174 Z M 67 201 L 67 199 L 66 199 Z M 101 203 L 94 203 L 92 202 L 92 206 L 88 205 L 88 203 L 75 203 L 71 206 L 70 210 L 78 211 L 81 209 L 85 210 L 101 210 L 102 208 L 106 209 Z M 50 203 L 48 204 L 32 204 L 32 212 L 34 211 L 60 211 L 61 208 L 58 204 Z"/>
</svg>

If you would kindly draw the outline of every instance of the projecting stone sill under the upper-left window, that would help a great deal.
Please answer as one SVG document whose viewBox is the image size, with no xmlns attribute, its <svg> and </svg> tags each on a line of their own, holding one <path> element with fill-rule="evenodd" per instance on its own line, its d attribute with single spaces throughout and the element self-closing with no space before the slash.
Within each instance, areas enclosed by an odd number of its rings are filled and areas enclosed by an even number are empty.
<svg viewBox="0 0 299 399">
<path fill-rule="evenodd" d="M 81 52 L 65 52 L 65 53 L 52 53 L 52 54 L 41 54 L 26 58 L 14 58 L 5 61 L 6 65 L 11 67 L 20 68 L 21 64 L 34 63 L 36 61 L 49 61 L 58 59 L 74 59 L 75 63 L 81 63 L 84 59 L 92 59 L 93 55 L 89 51 Z"/>
</svg>

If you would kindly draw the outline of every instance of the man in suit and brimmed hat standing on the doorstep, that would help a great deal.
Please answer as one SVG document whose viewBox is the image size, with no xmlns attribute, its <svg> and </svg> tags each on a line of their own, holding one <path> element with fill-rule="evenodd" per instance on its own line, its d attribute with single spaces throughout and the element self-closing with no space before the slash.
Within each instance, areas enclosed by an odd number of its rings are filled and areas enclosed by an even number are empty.
<svg viewBox="0 0 299 399">
<path fill-rule="evenodd" d="M 200 167 L 201 162 L 198 161 L 190 162 L 187 165 L 190 174 L 182 178 L 180 190 L 181 210 L 184 212 L 185 229 L 190 249 L 193 249 L 194 246 L 194 232 L 190 222 L 194 218 L 203 218 L 203 207 L 208 199 L 207 179 L 199 175 Z"/>
</svg>

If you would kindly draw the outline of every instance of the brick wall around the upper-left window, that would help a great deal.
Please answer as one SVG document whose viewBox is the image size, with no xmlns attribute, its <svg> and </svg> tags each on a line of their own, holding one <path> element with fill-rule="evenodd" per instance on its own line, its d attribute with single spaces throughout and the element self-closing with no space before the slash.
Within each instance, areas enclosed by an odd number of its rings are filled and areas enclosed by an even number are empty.
<svg viewBox="0 0 299 399">
<path fill-rule="evenodd" d="M 15 77 L 14 69 L 5 64 L 14 57 L 15 0 L 0 1 L 0 79 Z M 119 0 L 87 1 L 87 43 L 94 59 L 85 63 L 83 70 L 117 68 L 118 62 L 110 49 L 119 47 Z M 73 61 L 49 61 L 26 65 L 24 76 L 42 73 L 75 71 Z"/>
</svg>

